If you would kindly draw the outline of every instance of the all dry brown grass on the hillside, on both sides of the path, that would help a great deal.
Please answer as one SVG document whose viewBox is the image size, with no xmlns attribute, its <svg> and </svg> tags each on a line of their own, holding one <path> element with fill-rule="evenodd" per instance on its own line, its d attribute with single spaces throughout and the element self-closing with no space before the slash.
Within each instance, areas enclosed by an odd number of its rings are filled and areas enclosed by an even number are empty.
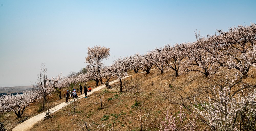
<svg viewBox="0 0 256 131">
<path fill-rule="evenodd" d="M 79 105 L 76 109 L 77 113 L 76 116 L 74 116 L 74 124 L 72 124 L 72 116 L 68 115 L 68 112 L 71 112 L 72 108 L 71 106 L 66 106 L 59 111 L 53 113 L 51 115 L 51 118 L 49 118 L 48 120 L 42 120 L 38 122 L 32 130 L 78 130 L 79 124 L 83 125 L 84 122 L 87 122 L 88 125 L 90 125 L 89 129 L 92 130 L 97 130 L 97 125 L 104 123 L 106 125 L 105 129 L 108 130 L 111 128 L 111 121 L 115 124 L 115 130 L 118 130 L 120 128 L 122 130 L 127 130 L 128 128 L 125 123 L 131 124 L 133 130 L 138 130 L 139 121 L 131 118 L 137 118 L 137 115 L 134 112 L 135 110 L 137 110 L 137 108 L 133 107 L 135 101 L 130 95 L 129 91 L 126 91 L 126 89 L 128 90 L 129 85 L 136 82 L 141 83 L 140 88 L 143 93 L 138 100 L 141 104 L 144 105 L 143 110 L 153 110 L 150 116 L 150 120 L 154 121 L 154 123 L 157 124 L 157 121 L 159 121 L 164 116 L 167 109 L 169 109 L 169 111 L 172 113 L 177 113 L 179 111 L 179 105 L 170 104 L 168 100 L 163 99 L 158 89 L 161 90 L 163 87 L 165 87 L 171 91 L 176 90 L 176 92 L 185 95 L 185 93 L 190 92 L 194 88 L 207 86 L 209 84 L 208 81 L 218 82 L 218 80 L 225 79 L 226 75 L 234 73 L 234 70 L 227 70 L 226 68 L 221 68 L 217 74 L 209 78 L 205 77 L 204 74 L 198 72 L 180 73 L 180 75 L 176 77 L 173 70 L 167 69 L 165 69 L 163 74 L 160 74 L 160 71 L 158 69 L 151 70 L 149 74 L 135 74 L 132 70 L 129 71 L 129 74 L 133 74 L 133 76 L 123 80 L 123 92 L 119 92 L 119 82 L 111 85 L 112 89 L 108 89 L 108 92 L 105 94 L 104 99 L 107 100 L 103 103 L 103 109 L 99 109 L 99 105 L 93 104 L 93 102 L 99 101 L 99 99 L 95 95 L 91 95 L 88 98 L 83 98 L 79 100 Z M 249 77 L 244 80 L 250 81 L 251 83 L 255 84 L 255 69 L 251 69 L 248 74 Z M 230 77 L 232 76 L 233 75 L 231 75 Z M 112 80 L 114 80 L 114 78 L 112 78 L 110 81 Z M 103 82 L 105 81 L 106 80 L 103 79 Z M 124 84 L 126 85 L 126 87 Z M 172 85 L 172 88 L 169 88 L 169 84 Z M 82 85 L 84 86 L 84 83 L 82 83 Z M 90 85 L 92 89 L 95 88 L 95 81 L 87 82 L 87 86 L 88 85 Z M 177 89 L 182 89 L 184 92 Z M 179 96 L 177 96 L 176 93 L 171 92 L 171 97 L 178 98 Z M 57 98 L 57 96 L 55 96 L 55 98 Z M 62 99 L 59 102 L 64 101 L 65 100 Z M 30 118 L 31 116 L 38 114 L 36 111 L 38 109 L 37 107 L 37 105 L 31 105 L 29 108 L 26 108 L 22 117 Z M 5 117 L 5 121 L 10 122 L 12 120 L 20 120 L 16 119 L 15 117 L 16 115 L 14 115 L 13 113 L 9 113 Z M 124 121 L 122 120 L 122 118 L 124 119 Z M 152 130 L 156 129 L 152 128 Z"/>
</svg>

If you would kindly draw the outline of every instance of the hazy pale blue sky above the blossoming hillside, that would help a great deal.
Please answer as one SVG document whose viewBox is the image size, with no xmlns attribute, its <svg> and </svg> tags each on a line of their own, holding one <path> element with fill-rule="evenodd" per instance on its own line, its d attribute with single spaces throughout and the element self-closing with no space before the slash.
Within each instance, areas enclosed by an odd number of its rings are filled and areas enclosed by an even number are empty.
<svg viewBox="0 0 256 131">
<path fill-rule="evenodd" d="M 0 0 L 0 86 L 30 85 L 40 63 L 48 77 L 86 67 L 87 47 L 114 58 L 165 44 L 195 41 L 256 22 L 256 1 L 11 1 Z"/>
</svg>

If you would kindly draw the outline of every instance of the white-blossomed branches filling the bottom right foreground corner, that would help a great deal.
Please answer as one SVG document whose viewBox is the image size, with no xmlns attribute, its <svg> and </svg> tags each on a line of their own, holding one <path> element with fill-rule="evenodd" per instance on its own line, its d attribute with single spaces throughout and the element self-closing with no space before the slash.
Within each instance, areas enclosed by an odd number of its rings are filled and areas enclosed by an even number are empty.
<svg viewBox="0 0 256 131">
<path fill-rule="evenodd" d="M 214 94 L 218 97 L 212 99 L 208 96 L 208 101 L 203 101 L 200 105 L 197 103 L 196 112 L 209 126 L 218 130 L 255 129 L 256 89 L 251 93 L 241 91 L 232 98 L 230 92 L 229 87 L 224 87 L 223 90 L 214 89 Z"/>
</svg>

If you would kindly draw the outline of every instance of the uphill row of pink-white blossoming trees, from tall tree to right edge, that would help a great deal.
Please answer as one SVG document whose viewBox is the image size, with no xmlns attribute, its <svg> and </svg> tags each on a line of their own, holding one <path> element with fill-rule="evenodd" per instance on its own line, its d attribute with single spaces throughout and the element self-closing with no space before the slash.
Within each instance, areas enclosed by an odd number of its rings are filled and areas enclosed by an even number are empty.
<svg viewBox="0 0 256 131">
<path fill-rule="evenodd" d="M 201 37 L 200 31 L 196 34 L 197 40 L 192 43 L 165 45 L 156 48 L 144 55 L 135 55 L 119 58 L 110 66 L 104 66 L 101 62 L 110 55 L 109 48 L 94 46 L 88 47 L 86 63 L 88 79 L 99 81 L 102 78 L 116 77 L 120 80 L 120 91 L 122 91 L 121 78 L 127 76 L 127 70 L 139 70 L 150 73 L 155 65 L 161 73 L 164 69 L 172 69 L 179 76 L 180 69 L 185 72 L 196 71 L 205 76 L 214 75 L 221 67 L 236 69 L 241 78 L 248 76 L 251 66 L 256 62 L 256 24 L 250 26 L 238 26 L 229 28 L 224 32 L 218 30 L 219 35 L 208 35 Z"/>
</svg>

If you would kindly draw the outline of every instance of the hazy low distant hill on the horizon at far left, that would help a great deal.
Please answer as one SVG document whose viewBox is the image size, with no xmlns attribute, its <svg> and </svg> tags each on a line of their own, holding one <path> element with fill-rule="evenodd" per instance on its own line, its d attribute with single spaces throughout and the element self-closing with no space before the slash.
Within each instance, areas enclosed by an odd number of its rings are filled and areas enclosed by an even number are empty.
<svg viewBox="0 0 256 131">
<path fill-rule="evenodd" d="M 31 89 L 33 86 L 13 86 L 13 87 L 0 87 L 0 93 L 16 93 Z"/>
</svg>

